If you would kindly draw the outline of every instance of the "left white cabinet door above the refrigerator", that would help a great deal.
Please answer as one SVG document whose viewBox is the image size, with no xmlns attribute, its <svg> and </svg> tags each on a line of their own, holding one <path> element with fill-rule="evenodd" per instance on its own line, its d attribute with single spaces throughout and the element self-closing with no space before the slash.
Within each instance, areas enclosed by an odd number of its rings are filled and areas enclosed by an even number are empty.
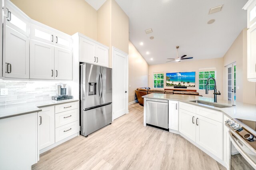
<svg viewBox="0 0 256 170">
<path fill-rule="evenodd" d="M 80 38 L 80 61 L 96 63 L 96 43 L 85 38 Z"/>
</svg>

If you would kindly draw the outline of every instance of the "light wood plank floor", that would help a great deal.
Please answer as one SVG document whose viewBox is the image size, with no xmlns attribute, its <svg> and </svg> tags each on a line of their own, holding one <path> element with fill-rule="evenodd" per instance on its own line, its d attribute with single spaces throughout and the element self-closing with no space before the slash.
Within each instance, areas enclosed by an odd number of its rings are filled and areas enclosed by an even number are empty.
<svg viewBox="0 0 256 170">
<path fill-rule="evenodd" d="M 143 107 L 88 138 L 73 138 L 40 155 L 32 169 L 219 170 L 226 169 L 178 134 L 143 126 Z"/>
</svg>

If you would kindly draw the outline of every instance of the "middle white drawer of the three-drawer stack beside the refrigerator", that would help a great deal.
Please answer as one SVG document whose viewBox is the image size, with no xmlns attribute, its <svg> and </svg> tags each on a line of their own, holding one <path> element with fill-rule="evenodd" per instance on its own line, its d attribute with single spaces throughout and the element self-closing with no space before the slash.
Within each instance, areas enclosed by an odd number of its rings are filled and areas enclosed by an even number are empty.
<svg viewBox="0 0 256 170">
<path fill-rule="evenodd" d="M 74 121 L 78 121 L 78 109 L 55 114 L 56 128 L 67 125 L 68 123 L 72 123 Z"/>
</svg>

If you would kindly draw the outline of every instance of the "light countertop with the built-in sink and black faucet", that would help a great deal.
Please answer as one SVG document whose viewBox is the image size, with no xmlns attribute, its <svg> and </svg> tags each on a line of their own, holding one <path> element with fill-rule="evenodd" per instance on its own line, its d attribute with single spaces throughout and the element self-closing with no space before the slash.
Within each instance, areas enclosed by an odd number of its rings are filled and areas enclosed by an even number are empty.
<svg viewBox="0 0 256 170">
<path fill-rule="evenodd" d="M 228 105 L 230 107 L 218 108 L 218 107 L 213 107 L 213 106 L 209 106 L 209 105 L 203 105 L 200 103 L 191 102 L 191 101 L 195 101 L 195 100 L 206 101 L 209 103 L 214 102 L 213 98 L 200 97 L 200 96 L 196 96 L 196 95 L 171 95 L 171 94 L 150 93 L 150 94 L 142 96 L 142 97 L 150 98 L 150 99 L 166 99 L 166 100 L 181 101 L 184 103 L 189 103 L 192 105 L 197 105 L 197 106 L 205 107 L 208 109 L 221 111 L 222 113 L 224 113 L 227 117 L 229 117 L 231 119 L 236 118 L 236 119 L 245 119 L 248 121 L 256 121 L 256 105 L 237 102 L 237 101 L 221 100 L 221 99 L 218 99 L 218 96 L 217 96 L 217 102 L 218 102 L 217 104 Z M 232 106 L 232 105 L 235 105 L 235 106 Z"/>
</svg>

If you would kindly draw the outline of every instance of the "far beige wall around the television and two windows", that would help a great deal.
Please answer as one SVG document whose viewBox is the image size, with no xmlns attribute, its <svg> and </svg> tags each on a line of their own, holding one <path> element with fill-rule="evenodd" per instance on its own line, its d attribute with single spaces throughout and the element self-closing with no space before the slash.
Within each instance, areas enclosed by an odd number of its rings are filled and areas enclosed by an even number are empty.
<svg viewBox="0 0 256 170">
<path fill-rule="evenodd" d="M 179 63 L 165 63 L 158 65 L 150 65 L 149 66 L 149 87 L 154 87 L 154 79 L 153 72 L 163 71 L 164 72 L 164 88 L 173 89 L 173 87 L 166 87 L 166 73 L 175 73 L 175 72 L 196 72 L 196 87 L 188 87 L 188 89 L 197 90 L 200 95 L 205 97 L 213 97 L 213 91 L 209 91 L 209 94 L 205 94 L 205 90 L 198 89 L 198 72 L 199 69 L 204 68 L 213 68 L 216 67 L 216 86 L 217 90 L 220 93 L 223 92 L 223 59 L 215 58 L 215 59 L 203 59 L 203 60 L 190 60 L 190 61 L 181 61 Z M 222 99 L 222 95 L 218 96 L 218 99 Z"/>
</svg>

